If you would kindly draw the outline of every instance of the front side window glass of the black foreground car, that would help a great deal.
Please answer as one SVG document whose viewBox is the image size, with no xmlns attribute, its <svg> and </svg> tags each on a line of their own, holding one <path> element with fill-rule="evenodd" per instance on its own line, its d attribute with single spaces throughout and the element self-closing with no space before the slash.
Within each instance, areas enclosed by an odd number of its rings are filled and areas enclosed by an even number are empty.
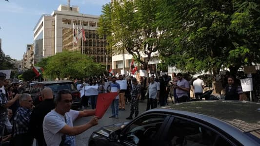
<svg viewBox="0 0 260 146">
<path fill-rule="evenodd" d="M 124 132 L 123 141 L 137 146 L 152 146 L 166 115 L 147 115 L 133 122 Z"/>
</svg>

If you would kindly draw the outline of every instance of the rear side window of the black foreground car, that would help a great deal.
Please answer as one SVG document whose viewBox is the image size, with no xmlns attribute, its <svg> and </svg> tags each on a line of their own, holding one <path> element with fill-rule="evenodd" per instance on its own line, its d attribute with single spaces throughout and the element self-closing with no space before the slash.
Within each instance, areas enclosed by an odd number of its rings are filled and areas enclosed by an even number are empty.
<svg viewBox="0 0 260 146">
<path fill-rule="evenodd" d="M 232 146 L 212 130 L 179 118 L 174 118 L 166 141 L 165 146 Z"/>
</svg>

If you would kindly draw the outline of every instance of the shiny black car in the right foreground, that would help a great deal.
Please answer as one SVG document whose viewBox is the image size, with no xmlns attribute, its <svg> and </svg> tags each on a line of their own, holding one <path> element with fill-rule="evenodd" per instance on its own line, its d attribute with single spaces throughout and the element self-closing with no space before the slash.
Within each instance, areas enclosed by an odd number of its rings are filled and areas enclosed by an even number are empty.
<svg viewBox="0 0 260 146">
<path fill-rule="evenodd" d="M 89 146 L 260 146 L 260 104 L 193 101 L 92 133 Z"/>
</svg>

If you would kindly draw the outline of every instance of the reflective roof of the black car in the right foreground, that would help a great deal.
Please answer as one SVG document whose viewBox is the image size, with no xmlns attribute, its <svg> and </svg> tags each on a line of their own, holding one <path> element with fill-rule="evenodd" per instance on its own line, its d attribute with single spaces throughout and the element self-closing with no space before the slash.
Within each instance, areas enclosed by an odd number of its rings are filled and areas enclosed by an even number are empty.
<svg viewBox="0 0 260 146">
<path fill-rule="evenodd" d="M 243 132 L 260 129 L 260 103 L 210 100 L 210 101 L 192 101 L 171 106 L 160 107 L 160 109 L 184 111 L 181 114 L 195 116 L 203 114 L 225 121 Z M 180 112 L 179 112 L 180 113 Z"/>
</svg>

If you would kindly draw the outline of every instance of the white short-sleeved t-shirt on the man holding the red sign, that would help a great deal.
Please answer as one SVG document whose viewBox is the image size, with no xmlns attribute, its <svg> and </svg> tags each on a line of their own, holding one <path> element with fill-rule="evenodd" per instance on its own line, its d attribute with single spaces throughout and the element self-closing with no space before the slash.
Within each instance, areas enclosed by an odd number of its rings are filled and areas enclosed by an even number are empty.
<svg viewBox="0 0 260 146">
<path fill-rule="evenodd" d="M 65 113 L 65 117 L 55 110 L 51 110 L 43 120 L 42 128 L 43 135 L 47 146 L 59 146 L 61 142 L 61 136 L 63 133 L 59 131 L 65 126 L 68 125 L 73 127 L 73 121 L 77 119 L 79 111 L 70 110 Z M 64 142 L 66 146 L 76 146 L 75 136 L 66 135 L 66 140 Z"/>
</svg>

